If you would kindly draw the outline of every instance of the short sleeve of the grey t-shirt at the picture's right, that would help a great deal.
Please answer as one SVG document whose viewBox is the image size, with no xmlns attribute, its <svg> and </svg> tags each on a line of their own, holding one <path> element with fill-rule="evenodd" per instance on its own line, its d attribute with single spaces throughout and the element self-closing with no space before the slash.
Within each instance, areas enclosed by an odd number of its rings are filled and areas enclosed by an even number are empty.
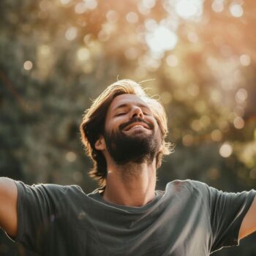
<svg viewBox="0 0 256 256">
<path fill-rule="evenodd" d="M 202 192 L 208 208 L 212 233 L 211 252 L 223 246 L 238 245 L 241 222 L 252 205 L 256 191 L 222 192 L 196 181 L 194 186 Z"/>
</svg>

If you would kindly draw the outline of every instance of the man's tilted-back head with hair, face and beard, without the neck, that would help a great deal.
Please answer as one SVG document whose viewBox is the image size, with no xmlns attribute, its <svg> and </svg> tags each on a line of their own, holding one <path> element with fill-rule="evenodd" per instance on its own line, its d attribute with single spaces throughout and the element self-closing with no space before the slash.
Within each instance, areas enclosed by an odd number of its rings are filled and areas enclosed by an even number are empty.
<svg viewBox="0 0 256 256">
<path fill-rule="evenodd" d="M 133 80 L 118 80 L 108 86 L 86 110 L 80 133 L 94 162 L 90 175 L 100 185 L 105 184 L 108 174 L 104 149 L 117 165 L 155 159 L 156 167 L 160 167 L 163 155 L 171 152 L 165 141 L 164 108 Z"/>
</svg>

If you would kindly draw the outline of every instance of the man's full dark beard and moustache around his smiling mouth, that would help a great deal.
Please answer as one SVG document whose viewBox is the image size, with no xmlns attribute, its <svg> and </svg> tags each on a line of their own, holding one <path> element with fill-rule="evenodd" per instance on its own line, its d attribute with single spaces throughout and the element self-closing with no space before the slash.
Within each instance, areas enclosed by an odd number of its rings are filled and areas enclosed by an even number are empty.
<svg viewBox="0 0 256 256">
<path fill-rule="evenodd" d="M 161 146 L 161 135 L 159 129 L 153 129 L 151 124 L 151 134 L 146 134 L 145 132 L 138 134 L 134 132 L 133 135 L 127 135 L 122 132 L 124 127 L 132 124 L 135 121 L 143 121 L 140 118 L 134 118 L 127 124 L 122 124 L 117 132 L 106 132 L 105 131 L 105 143 L 110 156 L 116 162 L 117 165 L 125 165 L 129 162 L 133 163 L 152 163 L 154 157 L 157 156 L 159 148 Z"/>
</svg>

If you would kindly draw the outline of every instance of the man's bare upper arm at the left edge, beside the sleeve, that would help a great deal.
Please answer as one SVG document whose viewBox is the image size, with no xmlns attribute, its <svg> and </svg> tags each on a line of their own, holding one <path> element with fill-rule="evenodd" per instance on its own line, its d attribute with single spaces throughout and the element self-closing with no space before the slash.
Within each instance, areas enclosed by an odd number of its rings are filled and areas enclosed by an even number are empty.
<svg viewBox="0 0 256 256">
<path fill-rule="evenodd" d="M 18 189 L 15 182 L 10 178 L 0 178 L 0 227 L 9 236 L 17 235 L 17 197 Z"/>
</svg>

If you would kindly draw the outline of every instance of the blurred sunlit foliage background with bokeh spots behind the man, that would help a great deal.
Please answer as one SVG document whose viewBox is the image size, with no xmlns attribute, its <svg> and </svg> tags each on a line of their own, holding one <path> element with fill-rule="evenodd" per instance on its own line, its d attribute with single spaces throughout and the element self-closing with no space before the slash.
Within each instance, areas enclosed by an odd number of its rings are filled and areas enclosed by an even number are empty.
<svg viewBox="0 0 256 256">
<path fill-rule="evenodd" d="M 255 13 L 252 0 L 1 0 L 0 176 L 95 189 L 78 127 L 130 78 L 149 80 L 176 144 L 158 189 L 256 188 Z M 256 255 L 255 238 L 214 255 Z M 1 232 L 0 255 L 34 254 Z"/>
</svg>

